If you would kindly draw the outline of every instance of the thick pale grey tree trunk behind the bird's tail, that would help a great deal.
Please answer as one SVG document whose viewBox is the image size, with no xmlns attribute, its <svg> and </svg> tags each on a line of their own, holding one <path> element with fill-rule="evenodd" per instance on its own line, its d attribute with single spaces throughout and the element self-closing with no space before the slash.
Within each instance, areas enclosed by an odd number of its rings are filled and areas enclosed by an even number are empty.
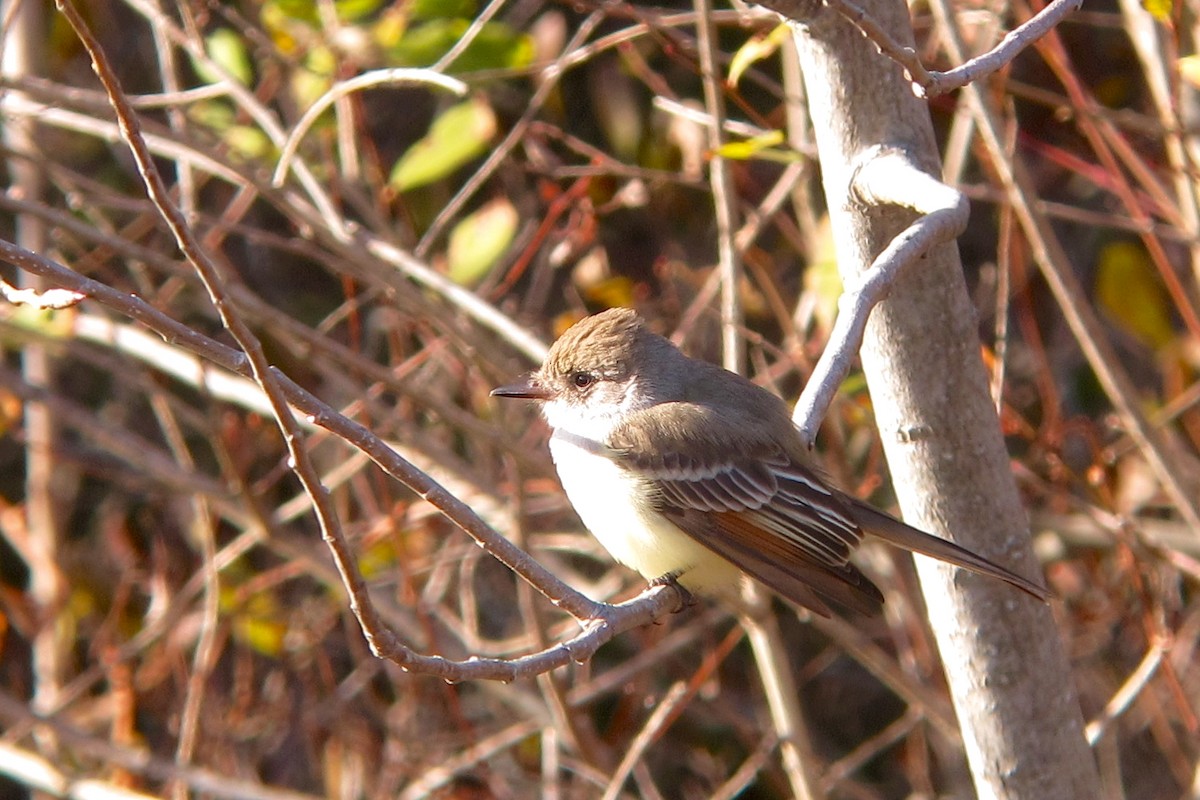
<svg viewBox="0 0 1200 800">
<path fill-rule="evenodd" d="M 912 43 L 902 2 L 881 0 L 870 13 Z M 852 197 L 856 160 L 894 146 L 937 175 L 936 142 L 900 67 L 834 12 L 798 25 L 797 44 L 848 282 L 911 221 Z M 913 265 L 875 309 L 862 357 L 905 518 L 1036 575 L 955 246 Z M 1099 796 L 1050 607 L 923 557 L 917 567 L 979 796 Z"/>
</svg>

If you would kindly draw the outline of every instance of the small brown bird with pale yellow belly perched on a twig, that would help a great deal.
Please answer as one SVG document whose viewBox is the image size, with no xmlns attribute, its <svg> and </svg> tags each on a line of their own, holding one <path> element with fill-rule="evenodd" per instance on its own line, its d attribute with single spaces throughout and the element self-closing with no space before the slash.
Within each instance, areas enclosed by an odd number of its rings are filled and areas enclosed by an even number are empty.
<svg viewBox="0 0 1200 800">
<path fill-rule="evenodd" d="M 850 563 L 865 531 L 1046 597 L 830 487 L 808 465 L 781 399 L 689 359 L 628 308 L 576 323 L 526 383 L 492 395 L 541 401 L 571 505 L 647 579 L 727 593 L 745 573 L 818 614 L 829 614 L 826 599 L 872 613 L 883 595 Z"/>
</svg>

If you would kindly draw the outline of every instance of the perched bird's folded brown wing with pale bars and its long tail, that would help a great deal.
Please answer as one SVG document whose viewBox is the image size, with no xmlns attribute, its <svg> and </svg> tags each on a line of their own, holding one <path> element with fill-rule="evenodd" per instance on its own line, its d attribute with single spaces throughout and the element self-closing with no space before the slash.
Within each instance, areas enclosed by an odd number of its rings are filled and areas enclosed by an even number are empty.
<svg viewBox="0 0 1200 800">
<path fill-rule="evenodd" d="M 780 408 L 764 403 L 755 413 L 778 416 Z M 790 425 L 784 413 L 761 425 L 712 405 L 664 403 L 614 432 L 612 453 L 647 476 L 659 510 L 684 533 L 817 613 L 828 609 L 814 593 L 868 613 L 882 602 L 850 563 L 864 530 L 1045 600 L 1038 584 L 829 488 L 802 463 L 798 445 L 787 450 L 762 438 Z"/>
</svg>

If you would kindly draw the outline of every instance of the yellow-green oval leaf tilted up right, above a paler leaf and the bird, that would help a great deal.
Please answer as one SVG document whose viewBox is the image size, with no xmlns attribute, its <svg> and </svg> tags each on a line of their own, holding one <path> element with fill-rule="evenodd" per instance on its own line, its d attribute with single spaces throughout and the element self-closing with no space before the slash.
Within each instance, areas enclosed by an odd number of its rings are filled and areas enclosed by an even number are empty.
<svg viewBox="0 0 1200 800">
<path fill-rule="evenodd" d="M 397 192 L 425 186 L 481 155 L 496 136 L 496 114 L 482 98 L 451 106 L 391 170 Z"/>
</svg>

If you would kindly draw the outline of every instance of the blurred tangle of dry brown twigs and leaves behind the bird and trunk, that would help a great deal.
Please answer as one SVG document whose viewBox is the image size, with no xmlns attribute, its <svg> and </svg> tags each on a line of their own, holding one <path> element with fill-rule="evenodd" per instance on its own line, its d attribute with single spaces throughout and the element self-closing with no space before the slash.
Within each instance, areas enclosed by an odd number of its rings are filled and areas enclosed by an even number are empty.
<svg viewBox="0 0 1200 800">
<path fill-rule="evenodd" d="M 80 4 L 211 260 L 222 319 L 148 199 L 79 38 L 29 5 L 44 30 L 12 24 L 6 47 L 44 47 L 6 67 L 2 237 L 96 283 L 61 309 L 0 307 L 0 795 L 97 780 L 264 799 L 788 796 L 745 633 L 715 606 L 509 684 L 374 657 L 295 456 L 228 349 L 241 341 L 233 318 L 265 361 L 560 579 L 595 599 L 636 595 L 566 505 L 533 409 L 488 390 L 614 305 L 719 360 L 692 8 Z M 1106 796 L 1159 800 L 1200 793 L 1200 196 L 1181 61 L 1196 8 L 1127 6 L 1090 5 L 985 80 L 1025 200 L 1081 294 L 1048 289 L 958 96 L 930 110 L 948 178 L 972 199 L 960 247 L 983 357 Z M 953 11 L 982 52 L 1033 10 Z M 946 67 L 937 18 L 914 8 L 918 55 Z M 836 303 L 818 166 L 774 19 L 714 19 L 726 73 L 762 50 L 725 85 L 740 125 L 726 155 L 749 372 L 794 399 Z M 472 44 L 446 56 L 464 34 Z M 416 67 L 430 68 L 338 96 L 276 175 L 322 92 Z M 752 138 L 787 125 L 786 138 Z M 20 275 L 4 272 L 61 285 Z M 1097 379 L 1070 324 L 1085 306 L 1135 396 Z M 1117 401 L 1147 415 L 1153 446 L 1130 437 Z M 401 642 L 506 658 L 577 633 L 326 421 L 306 409 L 299 446 Z M 840 485 L 888 505 L 857 372 L 818 446 Z M 968 796 L 911 563 L 869 551 L 863 565 L 886 588 L 878 619 L 779 608 L 809 771 L 830 798 Z M 35 754 L 59 783 L 30 777 L 22 759 Z"/>
</svg>

